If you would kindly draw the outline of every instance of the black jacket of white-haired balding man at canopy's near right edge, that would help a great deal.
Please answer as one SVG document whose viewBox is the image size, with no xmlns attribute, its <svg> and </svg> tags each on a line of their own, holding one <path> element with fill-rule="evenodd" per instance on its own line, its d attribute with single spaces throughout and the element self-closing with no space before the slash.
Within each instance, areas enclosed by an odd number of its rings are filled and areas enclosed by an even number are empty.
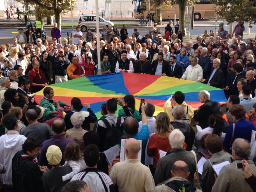
<svg viewBox="0 0 256 192">
<path fill-rule="evenodd" d="M 208 119 L 212 114 L 220 114 L 219 102 L 207 100 L 200 106 L 199 110 L 194 114 L 194 120 L 198 121 L 202 129 L 209 126 Z"/>
</svg>

